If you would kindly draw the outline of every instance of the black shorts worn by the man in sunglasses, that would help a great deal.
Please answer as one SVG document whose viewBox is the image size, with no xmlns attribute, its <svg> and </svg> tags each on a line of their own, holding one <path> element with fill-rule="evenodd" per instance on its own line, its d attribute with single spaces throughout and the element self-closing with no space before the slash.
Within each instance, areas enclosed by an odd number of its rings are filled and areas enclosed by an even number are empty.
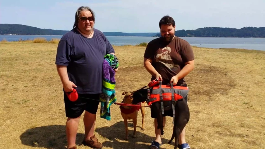
<svg viewBox="0 0 265 149">
<path fill-rule="evenodd" d="M 96 114 L 98 111 L 99 95 L 100 94 L 78 94 L 78 99 L 75 102 L 71 102 L 64 92 L 66 117 L 77 118 L 82 115 L 84 111 Z"/>
</svg>

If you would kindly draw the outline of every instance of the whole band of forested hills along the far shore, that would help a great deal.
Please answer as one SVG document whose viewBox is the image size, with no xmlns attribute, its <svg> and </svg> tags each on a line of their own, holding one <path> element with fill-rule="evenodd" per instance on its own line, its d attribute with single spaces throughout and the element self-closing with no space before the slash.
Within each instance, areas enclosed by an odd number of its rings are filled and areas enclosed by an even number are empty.
<svg viewBox="0 0 265 149">
<path fill-rule="evenodd" d="M 159 29 L 158 29 L 159 31 Z M 68 30 L 40 29 L 20 24 L 0 24 L 0 34 L 18 35 L 64 35 Z M 105 36 L 145 36 L 160 37 L 160 33 L 103 32 Z M 265 27 L 244 27 L 241 29 L 205 27 L 195 30 L 177 30 L 178 37 L 260 37 L 265 38 Z"/>
</svg>

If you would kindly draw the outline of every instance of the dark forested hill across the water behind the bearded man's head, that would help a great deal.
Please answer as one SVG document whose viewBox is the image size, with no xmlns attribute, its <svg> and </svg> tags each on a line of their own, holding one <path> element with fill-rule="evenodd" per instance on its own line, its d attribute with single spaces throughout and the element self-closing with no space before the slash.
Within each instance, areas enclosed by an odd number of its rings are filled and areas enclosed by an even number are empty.
<svg viewBox="0 0 265 149">
<path fill-rule="evenodd" d="M 241 29 L 205 27 L 196 30 L 177 30 L 178 37 L 260 37 L 265 38 L 265 27 L 244 27 Z M 156 34 L 160 37 L 160 33 Z"/>
</svg>

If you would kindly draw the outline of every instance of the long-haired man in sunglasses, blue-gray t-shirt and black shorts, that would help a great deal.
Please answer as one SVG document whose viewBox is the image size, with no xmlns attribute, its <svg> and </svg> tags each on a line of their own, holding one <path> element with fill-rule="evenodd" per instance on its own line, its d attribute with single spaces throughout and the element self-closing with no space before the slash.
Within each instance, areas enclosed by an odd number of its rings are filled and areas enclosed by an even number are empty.
<svg viewBox="0 0 265 149">
<path fill-rule="evenodd" d="M 73 29 L 63 35 L 58 47 L 57 72 L 65 92 L 73 88 L 79 95 L 71 102 L 64 92 L 67 149 L 76 149 L 75 137 L 79 119 L 84 115 L 85 138 L 83 144 L 91 148 L 102 148 L 94 135 L 96 112 L 102 88 L 102 67 L 104 56 L 114 55 L 114 49 L 104 34 L 94 29 L 95 16 L 89 7 L 78 8 Z M 116 69 L 115 71 L 117 71 Z"/>
</svg>

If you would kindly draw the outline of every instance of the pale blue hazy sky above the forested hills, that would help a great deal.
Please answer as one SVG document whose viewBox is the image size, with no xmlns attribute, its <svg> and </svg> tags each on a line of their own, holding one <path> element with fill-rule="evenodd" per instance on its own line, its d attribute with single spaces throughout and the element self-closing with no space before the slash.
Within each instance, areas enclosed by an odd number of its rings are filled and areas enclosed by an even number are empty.
<svg viewBox="0 0 265 149">
<path fill-rule="evenodd" d="M 0 24 L 71 30 L 80 6 L 94 11 L 94 28 L 102 32 L 160 32 L 165 15 L 176 30 L 265 27 L 265 0 L 0 0 Z"/>
</svg>

